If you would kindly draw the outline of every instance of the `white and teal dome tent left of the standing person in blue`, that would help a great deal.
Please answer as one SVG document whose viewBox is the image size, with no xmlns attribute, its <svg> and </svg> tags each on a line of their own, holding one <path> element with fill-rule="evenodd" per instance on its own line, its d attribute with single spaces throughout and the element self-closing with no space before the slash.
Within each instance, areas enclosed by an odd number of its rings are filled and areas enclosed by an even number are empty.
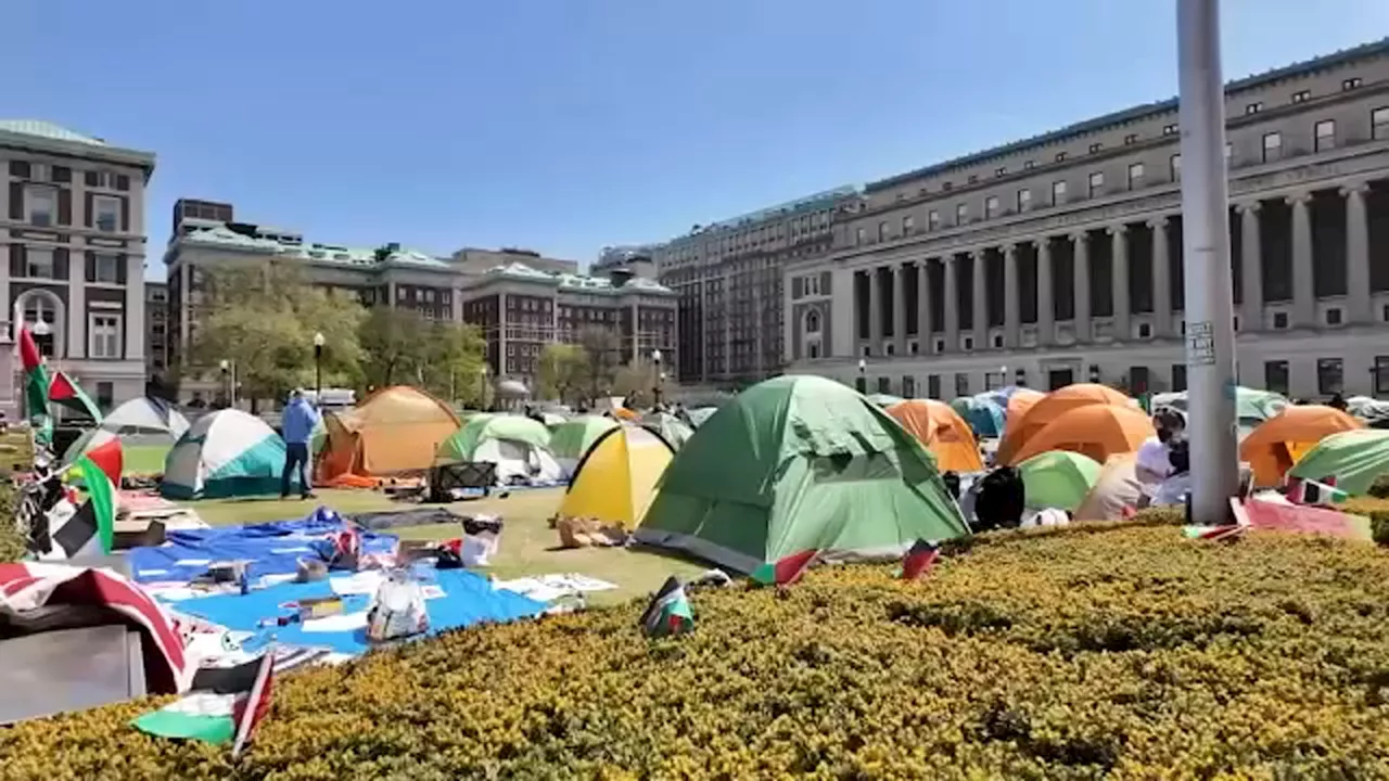
<svg viewBox="0 0 1389 781">
<path fill-rule="evenodd" d="M 169 450 L 160 492 L 169 499 L 279 493 L 285 441 L 240 410 L 208 413 Z"/>
</svg>

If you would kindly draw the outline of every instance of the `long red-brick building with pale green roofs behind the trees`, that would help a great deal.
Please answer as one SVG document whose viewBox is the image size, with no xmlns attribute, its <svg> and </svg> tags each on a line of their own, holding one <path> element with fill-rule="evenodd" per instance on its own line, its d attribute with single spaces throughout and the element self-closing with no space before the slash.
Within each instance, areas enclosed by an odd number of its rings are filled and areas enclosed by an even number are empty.
<svg viewBox="0 0 1389 781">
<path fill-rule="evenodd" d="M 215 368 L 193 365 L 190 354 L 207 270 L 268 260 L 294 263 L 311 283 L 363 306 L 390 304 L 432 320 L 476 324 L 488 339 L 492 375 L 531 388 L 540 349 L 567 339 L 579 324 L 610 327 L 624 345 L 656 349 L 668 343 L 672 353 L 675 347 L 667 328 L 667 321 L 674 328 L 674 304 L 668 304 L 674 295 L 649 279 L 615 283 L 585 277 L 576 261 L 514 247 L 464 247 L 435 257 L 399 243 L 310 242 L 296 231 L 240 222 L 232 204 L 182 199 L 174 206 L 164 261 L 167 365 L 183 377 L 185 399 L 210 399 L 218 390 Z"/>
</svg>

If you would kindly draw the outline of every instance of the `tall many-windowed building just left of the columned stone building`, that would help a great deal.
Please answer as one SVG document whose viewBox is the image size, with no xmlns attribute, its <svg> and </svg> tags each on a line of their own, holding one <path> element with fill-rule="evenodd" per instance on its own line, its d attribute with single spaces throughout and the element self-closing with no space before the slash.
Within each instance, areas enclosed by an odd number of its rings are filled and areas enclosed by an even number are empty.
<svg viewBox="0 0 1389 781">
<path fill-rule="evenodd" d="M 785 368 L 783 267 L 828 257 L 835 210 L 857 195 L 828 190 L 649 247 L 679 296 L 682 382 L 738 386 Z"/>
</svg>

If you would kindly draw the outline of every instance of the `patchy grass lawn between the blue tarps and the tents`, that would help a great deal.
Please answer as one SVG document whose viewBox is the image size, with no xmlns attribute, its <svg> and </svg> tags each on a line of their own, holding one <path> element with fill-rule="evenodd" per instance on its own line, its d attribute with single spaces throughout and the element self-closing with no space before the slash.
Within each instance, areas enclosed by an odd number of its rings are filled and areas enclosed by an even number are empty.
<svg viewBox="0 0 1389 781">
<path fill-rule="evenodd" d="M 208 524 L 218 527 L 300 518 L 308 514 L 315 504 L 332 507 L 343 514 L 432 506 L 392 502 L 385 493 L 372 491 L 325 489 L 317 493 L 317 502 L 303 502 L 299 499 L 225 499 L 186 502 L 183 504 L 196 510 Z M 488 568 L 489 573 L 499 578 L 579 573 L 618 585 L 614 591 L 593 595 L 590 599 L 592 605 L 613 605 L 635 596 L 644 596 L 660 588 L 667 575 L 688 577 L 707 568 L 706 564 L 650 550 L 626 550 L 621 548 L 560 549 L 557 548 L 560 536 L 554 529 L 547 527 L 546 521 L 558 509 L 563 498 L 563 488 L 547 488 L 515 491 L 506 498 L 490 496 L 488 499 L 456 502 L 446 504 L 446 507 L 460 516 L 485 513 L 501 516 L 506 520 L 500 552 L 493 560 L 492 567 Z M 404 527 L 392 529 L 392 534 L 399 534 L 403 539 L 438 539 L 457 536 L 458 527 L 444 524 Z"/>
</svg>

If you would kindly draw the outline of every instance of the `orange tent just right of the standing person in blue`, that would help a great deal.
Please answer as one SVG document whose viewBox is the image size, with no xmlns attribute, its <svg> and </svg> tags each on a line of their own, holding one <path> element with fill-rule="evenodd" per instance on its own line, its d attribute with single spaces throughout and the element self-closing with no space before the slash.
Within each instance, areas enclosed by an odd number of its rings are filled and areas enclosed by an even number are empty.
<svg viewBox="0 0 1389 781">
<path fill-rule="evenodd" d="M 332 481 L 428 470 L 435 450 L 460 425 L 449 404 L 424 390 L 382 388 L 358 407 L 324 416 L 328 443 L 318 475 Z"/>
</svg>

